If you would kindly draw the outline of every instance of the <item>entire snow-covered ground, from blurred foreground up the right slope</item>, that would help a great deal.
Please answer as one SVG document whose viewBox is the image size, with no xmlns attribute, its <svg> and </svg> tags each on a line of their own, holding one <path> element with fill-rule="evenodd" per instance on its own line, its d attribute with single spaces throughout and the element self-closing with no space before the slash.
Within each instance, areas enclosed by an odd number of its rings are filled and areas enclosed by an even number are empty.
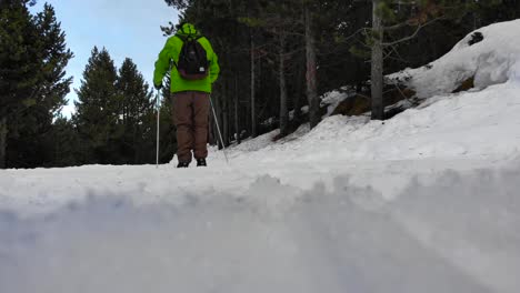
<svg viewBox="0 0 520 293">
<path fill-rule="evenodd" d="M 449 91 L 207 169 L 0 171 L 0 292 L 520 292 L 520 67 Z"/>
</svg>

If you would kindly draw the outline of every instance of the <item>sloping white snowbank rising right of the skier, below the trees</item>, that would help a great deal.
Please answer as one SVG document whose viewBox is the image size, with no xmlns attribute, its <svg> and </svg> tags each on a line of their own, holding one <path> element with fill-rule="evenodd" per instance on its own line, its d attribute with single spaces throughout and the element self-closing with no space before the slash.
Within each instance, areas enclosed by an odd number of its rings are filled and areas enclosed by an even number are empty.
<svg viewBox="0 0 520 293">
<path fill-rule="evenodd" d="M 252 156 L 257 162 L 283 158 L 324 164 L 511 158 L 520 153 L 519 111 L 520 87 L 498 84 L 479 92 L 430 99 L 383 123 L 366 117 L 331 117 L 299 140 L 238 156 Z"/>
</svg>

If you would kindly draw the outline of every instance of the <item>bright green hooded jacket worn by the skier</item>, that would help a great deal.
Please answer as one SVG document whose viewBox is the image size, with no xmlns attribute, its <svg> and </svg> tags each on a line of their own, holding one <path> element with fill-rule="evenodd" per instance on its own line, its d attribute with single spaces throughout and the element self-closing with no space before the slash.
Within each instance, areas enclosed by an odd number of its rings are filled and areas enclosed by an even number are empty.
<svg viewBox="0 0 520 293">
<path fill-rule="evenodd" d="M 207 78 L 201 80 L 186 80 L 182 79 L 177 70 L 179 62 L 179 54 L 182 49 L 181 37 L 200 37 L 200 33 L 196 30 L 193 24 L 184 23 L 182 28 L 177 32 L 176 36 L 168 39 L 164 48 L 159 53 L 159 59 L 156 62 L 156 71 L 153 72 L 153 84 L 159 85 L 162 83 L 167 71 L 171 67 L 171 92 L 182 91 L 201 91 L 211 93 L 211 85 L 219 77 L 220 68 L 218 57 L 213 51 L 208 39 L 204 37 L 198 39 L 198 42 L 204 48 L 209 61 L 209 74 Z M 172 62 L 173 61 L 173 62 Z"/>
</svg>

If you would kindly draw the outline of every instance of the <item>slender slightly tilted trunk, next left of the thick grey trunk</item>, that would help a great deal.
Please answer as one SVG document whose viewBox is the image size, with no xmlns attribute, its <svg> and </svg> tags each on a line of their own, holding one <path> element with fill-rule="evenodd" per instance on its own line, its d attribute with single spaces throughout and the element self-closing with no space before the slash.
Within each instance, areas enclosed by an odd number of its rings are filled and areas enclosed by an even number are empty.
<svg viewBox="0 0 520 293">
<path fill-rule="evenodd" d="M 321 121 L 320 100 L 317 90 L 316 40 L 312 31 L 312 17 L 306 7 L 306 54 L 307 54 L 307 100 L 309 102 L 309 121 L 311 129 Z"/>
</svg>

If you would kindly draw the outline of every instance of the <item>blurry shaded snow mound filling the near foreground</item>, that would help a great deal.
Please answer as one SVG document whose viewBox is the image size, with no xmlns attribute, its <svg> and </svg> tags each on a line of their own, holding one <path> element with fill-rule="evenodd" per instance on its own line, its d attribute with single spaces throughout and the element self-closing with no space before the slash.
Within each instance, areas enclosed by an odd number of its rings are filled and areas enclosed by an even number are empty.
<svg viewBox="0 0 520 293">
<path fill-rule="evenodd" d="M 94 198 L 0 212 L 0 292 L 516 293 L 520 170 L 446 172 L 393 202 L 337 178 L 182 205 Z"/>
</svg>

